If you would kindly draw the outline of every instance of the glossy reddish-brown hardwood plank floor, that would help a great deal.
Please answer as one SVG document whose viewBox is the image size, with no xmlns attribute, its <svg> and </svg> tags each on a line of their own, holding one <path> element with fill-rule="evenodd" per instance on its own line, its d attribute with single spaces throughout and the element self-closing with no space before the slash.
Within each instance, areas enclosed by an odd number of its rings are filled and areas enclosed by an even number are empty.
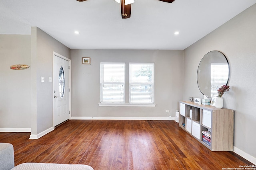
<svg viewBox="0 0 256 170">
<path fill-rule="evenodd" d="M 175 121 L 70 120 L 38 140 L 0 133 L 24 162 L 87 164 L 94 170 L 222 170 L 253 165 L 234 152 L 211 152 Z"/>
</svg>

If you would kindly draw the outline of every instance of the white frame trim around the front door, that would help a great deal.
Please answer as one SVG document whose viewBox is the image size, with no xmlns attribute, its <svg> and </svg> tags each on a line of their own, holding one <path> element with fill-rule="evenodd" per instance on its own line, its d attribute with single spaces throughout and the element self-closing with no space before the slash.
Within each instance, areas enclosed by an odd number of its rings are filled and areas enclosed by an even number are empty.
<svg viewBox="0 0 256 170">
<path fill-rule="evenodd" d="M 53 63 L 53 59 L 54 56 L 56 57 L 60 57 L 61 59 L 64 59 L 66 61 L 68 61 L 68 67 L 69 67 L 69 82 L 68 82 L 68 86 L 69 86 L 69 95 L 68 95 L 68 110 L 69 110 L 69 119 L 71 119 L 71 60 L 68 59 L 67 57 L 64 57 L 56 52 L 52 52 L 52 68 L 54 68 L 54 63 Z M 52 69 L 52 72 L 54 71 L 54 69 Z M 53 75 L 53 73 L 52 73 Z M 54 80 L 53 80 L 54 81 Z M 54 127 L 54 113 L 55 113 L 55 107 L 54 107 L 54 87 L 53 87 L 53 83 L 52 83 L 52 126 Z"/>
</svg>

